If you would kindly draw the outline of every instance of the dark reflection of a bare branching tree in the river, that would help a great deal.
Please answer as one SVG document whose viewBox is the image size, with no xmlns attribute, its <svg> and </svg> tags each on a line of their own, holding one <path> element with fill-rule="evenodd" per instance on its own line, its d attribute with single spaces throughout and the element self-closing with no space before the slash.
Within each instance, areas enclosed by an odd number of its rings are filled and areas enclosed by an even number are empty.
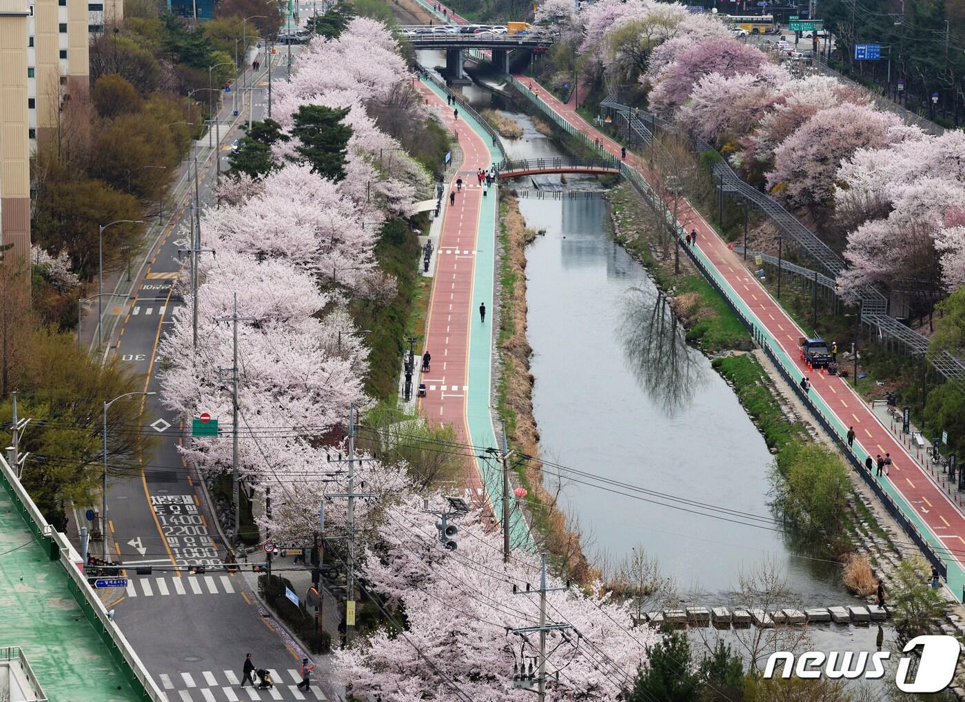
<svg viewBox="0 0 965 702">
<path fill-rule="evenodd" d="M 687 346 L 683 326 L 663 293 L 628 291 L 620 343 L 637 382 L 671 415 L 688 407 L 706 380 L 703 359 Z"/>
</svg>

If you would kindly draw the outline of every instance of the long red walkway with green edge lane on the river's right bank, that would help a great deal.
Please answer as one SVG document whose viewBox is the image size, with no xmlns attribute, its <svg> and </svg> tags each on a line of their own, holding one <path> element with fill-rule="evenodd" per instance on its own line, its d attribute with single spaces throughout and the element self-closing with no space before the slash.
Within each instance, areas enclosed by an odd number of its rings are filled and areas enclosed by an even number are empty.
<svg viewBox="0 0 965 702">
<path fill-rule="evenodd" d="M 562 104 L 539 86 L 535 79 L 523 75 L 516 75 L 516 78 L 527 86 L 532 82 L 534 89 L 539 89 L 540 101 L 591 140 L 598 138 L 600 149 L 609 154 L 620 154 L 620 144 L 588 124 L 573 111 L 572 106 Z M 627 154 L 627 163 L 647 178 L 641 159 Z M 957 496 L 949 489 L 943 491 L 933 482 L 927 469 L 914 460 L 914 449 L 906 449 L 845 380 L 808 371 L 799 360 L 797 348 L 798 337 L 806 336 L 806 333 L 786 315 L 698 211 L 685 204 L 678 219 L 685 223 L 687 230 L 697 230 L 695 256 L 708 267 L 731 302 L 762 330 L 764 341 L 775 351 L 787 372 L 794 379 L 805 375 L 811 379 L 809 399 L 816 411 L 828 419 L 841 437 L 849 427 L 854 427 L 857 434 L 855 451 L 859 461 L 864 463 L 868 455 L 874 458 L 878 454 L 891 454 L 891 474 L 879 478 L 881 485 L 905 516 L 918 527 L 931 547 L 945 559 L 949 569 L 948 587 L 957 596 L 965 585 L 965 516 L 952 501 Z"/>
</svg>

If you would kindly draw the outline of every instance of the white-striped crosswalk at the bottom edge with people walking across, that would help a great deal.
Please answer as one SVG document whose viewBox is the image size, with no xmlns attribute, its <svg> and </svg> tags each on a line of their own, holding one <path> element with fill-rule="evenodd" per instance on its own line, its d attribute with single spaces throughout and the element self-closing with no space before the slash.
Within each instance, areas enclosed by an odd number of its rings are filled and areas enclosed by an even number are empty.
<svg viewBox="0 0 965 702">
<path fill-rule="evenodd" d="M 316 683 L 299 689 L 301 675 L 294 668 L 268 668 L 273 688 L 240 687 L 240 673 L 234 670 L 197 673 L 161 673 L 156 681 L 167 702 L 244 702 L 245 700 L 327 700 Z M 256 678 L 256 682 L 257 682 Z"/>
</svg>

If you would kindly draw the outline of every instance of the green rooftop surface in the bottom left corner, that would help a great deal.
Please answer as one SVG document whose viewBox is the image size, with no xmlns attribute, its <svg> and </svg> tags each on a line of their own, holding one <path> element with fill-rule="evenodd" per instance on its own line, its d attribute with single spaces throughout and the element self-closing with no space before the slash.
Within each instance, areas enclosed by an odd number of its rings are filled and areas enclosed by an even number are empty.
<svg viewBox="0 0 965 702">
<path fill-rule="evenodd" d="M 0 487 L 0 646 L 19 646 L 51 702 L 139 699 L 51 561 Z"/>
</svg>

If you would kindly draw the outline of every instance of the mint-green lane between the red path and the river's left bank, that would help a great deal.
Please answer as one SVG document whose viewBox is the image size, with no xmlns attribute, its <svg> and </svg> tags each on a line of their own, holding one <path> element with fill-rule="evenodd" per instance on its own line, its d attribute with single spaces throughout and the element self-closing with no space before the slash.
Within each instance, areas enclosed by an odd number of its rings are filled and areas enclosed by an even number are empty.
<svg viewBox="0 0 965 702">
<path fill-rule="evenodd" d="M 446 98 L 446 91 L 430 80 L 423 81 L 425 85 L 439 98 Z M 459 118 L 469 126 L 480 138 L 485 147 L 490 163 L 496 163 L 502 158 L 499 148 L 492 144 L 487 131 L 479 119 L 463 109 Z M 490 389 L 492 387 L 492 348 L 493 348 L 493 311 L 496 309 L 495 274 L 496 274 L 496 227 L 499 224 L 498 187 L 490 188 L 489 196 L 481 198 L 479 220 L 476 225 L 476 256 L 473 263 L 473 304 L 471 311 L 485 303 L 490 311 L 490 322 L 486 324 L 469 324 L 469 359 L 467 376 L 469 390 L 465 397 L 466 431 L 469 433 L 469 443 L 478 450 L 498 448 L 497 439 L 492 423 L 489 407 Z M 502 514 L 501 499 L 503 492 L 503 466 L 498 457 L 492 459 L 474 459 L 485 487 L 486 499 L 494 515 Z M 533 545 L 529 524 L 523 519 L 522 511 L 512 509 L 510 496 L 510 543 L 513 548 L 530 548 Z"/>
</svg>

